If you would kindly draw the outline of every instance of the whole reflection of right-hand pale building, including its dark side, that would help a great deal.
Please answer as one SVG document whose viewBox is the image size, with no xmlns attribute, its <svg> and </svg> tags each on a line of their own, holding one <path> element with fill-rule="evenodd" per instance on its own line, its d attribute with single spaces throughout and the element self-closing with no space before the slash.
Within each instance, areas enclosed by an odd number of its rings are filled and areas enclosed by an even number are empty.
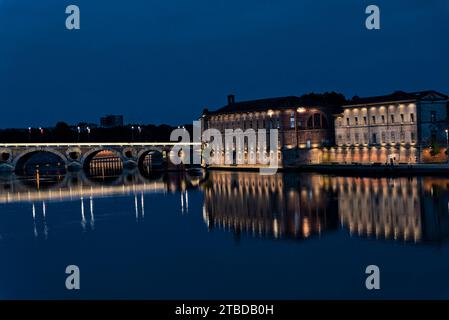
<svg viewBox="0 0 449 320">
<path fill-rule="evenodd" d="M 335 180 L 340 220 L 351 234 L 410 242 L 449 237 L 447 181 L 438 187 L 434 178 Z"/>
</svg>

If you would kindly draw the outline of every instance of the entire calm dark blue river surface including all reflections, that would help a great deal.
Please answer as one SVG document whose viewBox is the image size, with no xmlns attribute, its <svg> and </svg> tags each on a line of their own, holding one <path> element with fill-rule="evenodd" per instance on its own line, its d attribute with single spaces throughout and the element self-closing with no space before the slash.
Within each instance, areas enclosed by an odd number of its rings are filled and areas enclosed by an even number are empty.
<svg viewBox="0 0 449 320">
<path fill-rule="evenodd" d="M 438 177 L 2 176 L 0 298 L 448 299 L 448 203 Z"/>
</svg>

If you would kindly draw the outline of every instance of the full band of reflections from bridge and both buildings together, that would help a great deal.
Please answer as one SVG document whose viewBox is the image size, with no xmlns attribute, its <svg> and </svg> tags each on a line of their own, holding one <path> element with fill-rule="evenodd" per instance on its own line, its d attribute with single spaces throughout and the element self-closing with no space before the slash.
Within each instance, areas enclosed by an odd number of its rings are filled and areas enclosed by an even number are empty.
<svg viewBox="0 0 449 320">
<path fill-rule="evenodd" d="M 190 193 L 203 194 L 202 208 Z M 146 195 L 178 193 L 179 214 L 202 214 L 209 230 L 273 239 L 305 240 L 342 230 L 351 236 L 440 243 L 449 238 L 449 180 L 435 177 L 363 178 L 318 174 L 211 171 L 141 175 L 124 171 L 105 179 L 83 172 L 33 178 L 0 178 L 0 206 L 25 203 L 35 237 L 47 238 L 53 203 L 79 208 L 83 232 L 96 228 L 95 208 L 102 198 L 130 197 L 127 210 L 137 223 L 145 220 Z M 75 203 L 78 203 L 75 205 Z M 101 206 L 101 204 L 98 204 Z M 109 204 L 111 205 L 111 204 Z"/>
</svg>

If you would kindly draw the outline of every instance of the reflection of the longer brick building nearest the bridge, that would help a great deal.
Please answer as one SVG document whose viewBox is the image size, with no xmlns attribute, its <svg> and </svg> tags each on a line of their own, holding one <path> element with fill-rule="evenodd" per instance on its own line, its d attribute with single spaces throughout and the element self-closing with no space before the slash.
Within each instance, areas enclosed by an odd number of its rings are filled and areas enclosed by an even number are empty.
<svg viewBox="0 0 449 320">
<path fill-rule="evenodd" d="M 204 188 L 210 228 L 275 238 L 308 238 L 338 225 L 327 178 L 211 172 Z"/>
</svg>

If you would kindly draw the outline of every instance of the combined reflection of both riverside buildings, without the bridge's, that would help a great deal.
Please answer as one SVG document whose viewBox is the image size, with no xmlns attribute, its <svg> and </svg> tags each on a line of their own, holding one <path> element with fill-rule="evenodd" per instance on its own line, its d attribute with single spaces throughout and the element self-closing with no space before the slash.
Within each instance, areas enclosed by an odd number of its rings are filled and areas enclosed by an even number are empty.
<svg viewBox="0 0 449 320">
<path fill-rule="evenodd" d="M 449 180 L 212 172 L 204 188 L 209 228 L 274 238 L 350 235 L 411 243 L 449 237 Z"/>
</svg>

